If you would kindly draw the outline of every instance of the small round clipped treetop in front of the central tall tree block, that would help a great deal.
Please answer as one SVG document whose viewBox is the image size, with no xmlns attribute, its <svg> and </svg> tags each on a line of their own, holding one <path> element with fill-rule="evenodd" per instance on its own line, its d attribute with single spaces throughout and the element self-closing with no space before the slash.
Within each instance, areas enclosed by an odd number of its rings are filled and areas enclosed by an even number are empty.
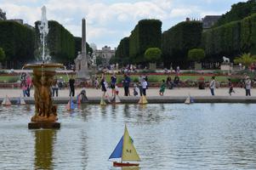
<svg viewBox="0 0 256 170">
<path fill-rule="evenodd" d="M 155 63 L 161 59 L 162 51 L 159 48 L 147 48 L 144 55 L 147 62 Z"/>
</svg>

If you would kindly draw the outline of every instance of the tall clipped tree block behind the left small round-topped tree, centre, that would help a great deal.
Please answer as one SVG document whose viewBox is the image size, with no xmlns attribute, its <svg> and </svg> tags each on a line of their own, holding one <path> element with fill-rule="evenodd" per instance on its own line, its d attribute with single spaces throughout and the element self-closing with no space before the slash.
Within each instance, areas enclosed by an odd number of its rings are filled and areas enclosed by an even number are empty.
<svg viewBox="0 0 256 170">
<path fill-rule="evenodd" d="M 133 63 L 145 63 L 147 48 L 161 48 L 162 21 L 139 20 L 129 37 L 129 57 Z"/>
</svg>

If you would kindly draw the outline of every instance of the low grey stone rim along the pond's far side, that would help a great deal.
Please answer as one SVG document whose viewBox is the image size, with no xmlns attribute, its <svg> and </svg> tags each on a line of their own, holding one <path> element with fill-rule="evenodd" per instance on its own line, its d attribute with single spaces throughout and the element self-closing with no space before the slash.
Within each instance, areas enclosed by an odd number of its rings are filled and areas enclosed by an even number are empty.
<svg viewBox="0 0 256 170">
<path fill-rule="evenodd" d="M 147 97 L 149 104 L 171 104 L 171 103 L 184 103 L 187 96 L 150 96 Z M 18 98 L 10 98 L 12 104 L 17 104 Z M 24 98 L 26 104 L 34 104 L 34 98 Z M 67 104 L 69 97 L 53 98 L 54 104 Z M 137 104 L 139 97 L 128 96 L 120 97 L 121 104 Z M 254 96 L 193 96 L 195 103 L 245 103 L 256 104 L 256 97 Z M 76 103 L 76 98 L 73 98 Z M 0 102 L 3 98 L 0 98 Z M 100 97 L 88 97 L 88 104 L 100 104 Z"/>
</svg>

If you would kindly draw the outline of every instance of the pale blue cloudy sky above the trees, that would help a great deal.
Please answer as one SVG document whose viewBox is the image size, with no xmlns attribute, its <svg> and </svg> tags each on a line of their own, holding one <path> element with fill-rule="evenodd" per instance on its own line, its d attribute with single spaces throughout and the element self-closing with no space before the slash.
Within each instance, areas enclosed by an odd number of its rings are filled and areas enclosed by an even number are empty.
<svg viewBox="0 0 256 170">
<path fill-rule="evenodd" d="M 139 20 L 162 20 L 167 31 L 186 17 L 225 14 L 233 3 L 244 0 L 0 0 L 7 19 L 23 19 L 34 26 L 41 20 L 41 8 L 47 8 L 48 20 L 57 20 L 74 36 L 81 37 L 82 18 L 87 20 L 87 42 L 98 49 L 116 48 L 128 37 Z"/>
</svg>

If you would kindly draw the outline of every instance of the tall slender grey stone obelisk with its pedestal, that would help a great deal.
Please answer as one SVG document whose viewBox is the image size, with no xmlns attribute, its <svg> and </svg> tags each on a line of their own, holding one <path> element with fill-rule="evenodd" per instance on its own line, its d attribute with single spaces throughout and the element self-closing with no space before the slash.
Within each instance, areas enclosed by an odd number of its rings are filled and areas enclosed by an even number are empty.
<svg viewBox="0 0 256 170">
<path fill-rule="evenodd" d="M 82 19 L 82 52 L 78 54 L 76 63 L 76 72 L 78 79 L 89 79 L 88 59 L 86 53 L 86 20 Z"/>
</svg>

